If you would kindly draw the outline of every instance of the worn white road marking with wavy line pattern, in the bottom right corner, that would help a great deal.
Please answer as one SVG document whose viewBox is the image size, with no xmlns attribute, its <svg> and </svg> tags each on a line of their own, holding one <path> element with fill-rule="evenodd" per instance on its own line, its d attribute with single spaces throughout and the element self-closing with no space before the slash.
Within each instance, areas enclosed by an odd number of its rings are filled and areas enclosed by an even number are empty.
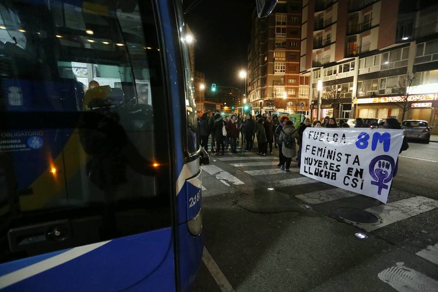
<svg viewBox="0 0 438 292">
<path fill-rule="evenodd" d="M 436 280 L 405 267 L 403 262 L 383 270 L 377 276 L 399 292 L 437 292 Z"/>
</svg>

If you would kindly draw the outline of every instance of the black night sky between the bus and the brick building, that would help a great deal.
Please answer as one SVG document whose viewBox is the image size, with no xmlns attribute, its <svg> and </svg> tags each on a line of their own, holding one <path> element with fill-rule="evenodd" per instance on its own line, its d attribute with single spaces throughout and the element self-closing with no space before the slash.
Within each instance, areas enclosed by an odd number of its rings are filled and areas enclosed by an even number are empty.
<svg viewBox="0 0 438 292">
<path fill-rule="evenodd" d="M 207 88 L 244 88 L 238 71 L 246 68 L 255 6 L 256 0 L 202 0 L 184 16 L 196 39 L 195 69 L 205 74 Z"/>
</svg>

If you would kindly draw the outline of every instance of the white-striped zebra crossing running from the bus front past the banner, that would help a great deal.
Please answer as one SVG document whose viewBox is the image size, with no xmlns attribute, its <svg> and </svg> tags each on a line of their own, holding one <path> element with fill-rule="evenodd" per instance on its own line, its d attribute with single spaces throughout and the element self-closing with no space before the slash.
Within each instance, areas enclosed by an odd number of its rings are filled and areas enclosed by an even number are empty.
<svg viewBox="0 0 438 292">
<path fill-rule="evenodd" d="M 274 186 L 276 189 L 288 189 L 288 187 L 304 185 L 306 190 L 310 190 L 310 186 L 313 185 L 312 189 L 316 188 L 317 190 L 294 194 L 292 197 L 315 207 L 326 203 L 333 203 L 338 200 L 348 200 L 356 197 L 364 198 L 364 196 L 359 194 L 331 185 L 329 186 L 300 175 L 299 168 L 292 167 L 296 165 L 295 162 L 292 162 L 290 168 L 291 172 L 285 173 L 277 166 L 278 157 L 276 156 L 255 156 L 251 153 L 249 155 L 240 154 L 217 157 L 216 159 L 219 160 L 216 164 L 226 164 L 227 167 L 231 166 L 235 169 L 235 172 L 233 172 L 234 175 L 222 170 L 215 164 L 206 165 L 203 166 L 203 168 L 207 173 L 217 176 L 216 178 L 219 180 L 223 180 L 223 173 L 226 173 L 225 177 L 228 180 L 228 183 L 225 183 L 226 185 L 238 186 L 245 183 L 249 184 L 251 182 L 247 181 L 251 179 L 248 178 L 248 175 L 257 181 L 262 181 L 270 186 Z M 218 176 L 218 173 L 222 173 L 222 175 Z M 208 186 L 206 188 L 206 192 L 208 193 Z M 354 207 L 376 216 L 379 218 L 378 222 L 368 224 L 349 221 L 348 219 L 344 219 L 344 221 L 366 232 L 372 232 L 395 222 L 418 216 L 424 212 L 436 210 L 438 209 L 438 200 L 413 195 L 407 199 L 391 201 L 387 204 L 379 204 L 368 208 L 361 208 L 360 204 Z M 432 249 L 432 252 L 434 251 L 438 253 L 437 248 Z"/>
</svg>

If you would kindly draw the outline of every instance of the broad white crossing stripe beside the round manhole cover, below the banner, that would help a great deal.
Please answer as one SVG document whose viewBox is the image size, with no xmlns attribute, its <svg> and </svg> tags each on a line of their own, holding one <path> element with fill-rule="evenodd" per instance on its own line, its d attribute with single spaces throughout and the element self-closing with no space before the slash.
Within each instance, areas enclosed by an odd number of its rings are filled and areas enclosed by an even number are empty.
<svg viewBox="0 0 438 292">
<path fill-rule="evenodd" d="M 411 197 L 365 209 L 366 212 L 379 217 L 379 221 L 376 223 L 351 223 L 369 232 L 436 208 L 438 208 L 437 200 L 422 196 Z"/>
</svg>

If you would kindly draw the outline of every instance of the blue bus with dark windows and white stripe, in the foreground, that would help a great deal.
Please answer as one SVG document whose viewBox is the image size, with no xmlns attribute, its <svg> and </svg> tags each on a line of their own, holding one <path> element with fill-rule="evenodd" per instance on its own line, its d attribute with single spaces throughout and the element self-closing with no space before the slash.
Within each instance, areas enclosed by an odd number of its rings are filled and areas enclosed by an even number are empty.
<svg viewBox="0 0 438 292">
<path fill-rule="evenodd" d="M 2 291 L 190 291 L 208 155 L 182 9 L 0 1 Z"/>
</svg>

